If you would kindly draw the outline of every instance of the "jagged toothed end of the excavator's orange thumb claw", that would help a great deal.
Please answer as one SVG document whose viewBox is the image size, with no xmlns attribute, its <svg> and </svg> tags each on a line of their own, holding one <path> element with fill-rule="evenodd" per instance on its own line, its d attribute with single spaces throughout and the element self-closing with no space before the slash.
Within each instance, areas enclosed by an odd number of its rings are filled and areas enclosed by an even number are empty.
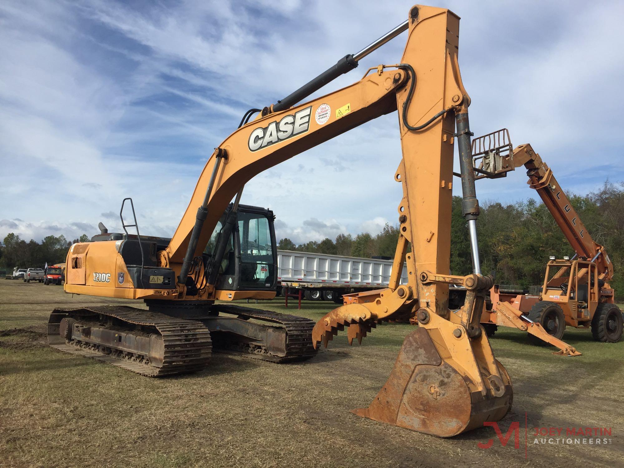
<svg viewBox="0 0 624 468">
<path fill-rule="evenodd" d="M 366 307 L 359 304 L 344 305 L 329 312 L 314 325 L 312 343 L 314 348 L 318 343 L 323 343 L 323 346 L 327 347 L 334 335 L 338 334 L 338 331 L 343 331 L 345 326 L 349 327 L 349 344 L 353 338 L 358 338 L 358 342 L 361 343 L 362 338 L 374 325 L 371 312 Z"/>
</svg>

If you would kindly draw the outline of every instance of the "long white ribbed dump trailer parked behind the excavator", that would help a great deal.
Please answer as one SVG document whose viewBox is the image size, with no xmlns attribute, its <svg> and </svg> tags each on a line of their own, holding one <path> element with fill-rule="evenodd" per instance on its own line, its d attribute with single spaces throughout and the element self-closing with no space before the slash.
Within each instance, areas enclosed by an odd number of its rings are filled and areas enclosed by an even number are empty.
<svg viewBox="0 0 624 468">
<path fill-rule="evenodd" d="M 383 258 L 278 250 L 277 262 L 279 287 L 302 290 L 308 300 L 342 303 L 345 294 L 387 288 L 392 275 L 392 260 Z"/>
</svg>

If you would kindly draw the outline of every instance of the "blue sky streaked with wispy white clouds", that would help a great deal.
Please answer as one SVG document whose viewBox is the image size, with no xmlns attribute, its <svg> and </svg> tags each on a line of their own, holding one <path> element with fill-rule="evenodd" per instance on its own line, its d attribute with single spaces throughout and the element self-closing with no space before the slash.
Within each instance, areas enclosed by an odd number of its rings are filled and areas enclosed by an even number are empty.
<svg viewBox="0 0 624 468">
<path fill-rule="evenodd" d="M 449 1 L 475 135 L 507 127 L 568 192 L 624 180 L 622 2 Z M 396 26 L 400 1 L 0 2 L 0 238 L 119 229 L 172 235 L 213 148 L 270 105 Z M 396 63 L 403 34 L 357 71 Z M 396 114 L 254 178 L 243 203 L 295 242 L 396 222 Z M 457 163 L 456 163 L 457 166 Z M 457 170 L 457 167 L 456 167 Z M 481 202 L 534 197 L 523 170 L 477 182 Z M 456 184 L 459 188 L 459 184 Z M 460 193 L 457 192 L 457 195 Z"/>
</svg>

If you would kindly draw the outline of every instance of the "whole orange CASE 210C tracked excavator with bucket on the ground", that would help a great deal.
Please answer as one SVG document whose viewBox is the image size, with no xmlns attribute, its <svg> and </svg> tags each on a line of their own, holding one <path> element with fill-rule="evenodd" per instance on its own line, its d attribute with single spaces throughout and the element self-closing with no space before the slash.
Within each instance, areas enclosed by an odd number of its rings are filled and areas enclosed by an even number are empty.
<svg viewBox="0 0 624 468">
<path fill-rule="evenodd" d="M 401 61 L 372 67 L 358 82 L 301 104 L 404 31 Z M 130 235 L 126 228 L 136 227 L 134 218 L 124 223 L 124 234 L 100 226 L 93 241 L 69 250 L 67 293 L 144 300 L 149 310 L 57 308 L 48 325 L 51 345 L 162 376 L 202 369 L 213 346 L 280 362 L 308 358 L 341 329 L 348 328 L 349 339 L 361 339 L 380 321 L 408 313 L 419 327 L 406 336 L 378 396 L 356 414 L 441 437 L 504 417 L 512 384 L 480 326 L 492 278 L 480 270 L 470 97 L 458 53 L 459 17 L 416 5 L 399 26 L 247 122 L 251 110 L 208 159 L 171 239 L 140 236 L 138 228 Z M 245 183 L 391 112 L 399 117 L 402 159 L 394 179 L 403 197 L 389 287 L 331 311 L 313 329 L 305 319 L 233 305 L 275 295 L 272 213 L 240 205 Z M 449 275 L 456 144 L 472 250 L 473 273 L 467 276 Z M 374 182 L 371 175 L 369 185 Z M 401 285 L 404 261 L 408 281 Z M 449 310 L 449 285 L 467 290 L 457 311 Z"/>
</svg>

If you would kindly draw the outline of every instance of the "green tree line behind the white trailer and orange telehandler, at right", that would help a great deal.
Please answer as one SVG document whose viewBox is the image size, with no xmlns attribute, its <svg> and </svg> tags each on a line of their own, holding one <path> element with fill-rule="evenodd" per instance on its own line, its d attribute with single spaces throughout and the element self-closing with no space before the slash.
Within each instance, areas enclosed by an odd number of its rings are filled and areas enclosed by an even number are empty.
<svg viewBox="0 0 624 468">
<path fill-rule="evenodd" d="M 605 182 L 598 192 L 570 195 L 570 203 L 593 240 L 604 245 L 613 262 L 613 280 L 618 299 L 624 298 L 624 183 Z M 451 274 L 472 271 L 470 241 L 461 197 L 453 197 L 451 222 Z M 533 198 L 503 205 L 484 202 L 477 220 L 481 270 L 494 272 L 496 282 L 505 285 L 542 285 L 549 256 L 572 258 L 574 251 L 544 203 Z M 340 234 L 336 240 L 310 241 L 295 245 L 288 238 L 278 248 L 334 255 L 394 256 L 399 238 L 398 225 L 386 224 L 377 235 Z"/>
</svg>

